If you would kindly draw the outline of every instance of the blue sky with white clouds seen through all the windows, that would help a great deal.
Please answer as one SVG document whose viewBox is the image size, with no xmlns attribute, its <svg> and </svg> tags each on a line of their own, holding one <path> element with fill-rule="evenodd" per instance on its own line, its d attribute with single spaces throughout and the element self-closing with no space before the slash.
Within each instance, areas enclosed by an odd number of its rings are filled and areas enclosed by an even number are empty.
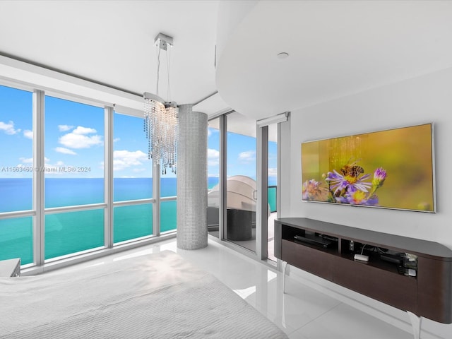
<svg viewBox="0 0 452 339">
<path fill-rule="evenodd" d="M 46 178 L 103 177 L 104 109 L 45 97 Z M 208 128 L 208 175 L 218 177 L 220 135 Z M 32 93 L 0 85 L 0 178 L 32 177 Z M 114 177 L 151 177 L 143 119 L 114 114 Z M 227 175 L 256 179 L 256 138 L 227 133 Z M 269 143 L 269 176 L 276 143 Z M 171 170 L 162 177 L 176 177 Z"/>
</svg>

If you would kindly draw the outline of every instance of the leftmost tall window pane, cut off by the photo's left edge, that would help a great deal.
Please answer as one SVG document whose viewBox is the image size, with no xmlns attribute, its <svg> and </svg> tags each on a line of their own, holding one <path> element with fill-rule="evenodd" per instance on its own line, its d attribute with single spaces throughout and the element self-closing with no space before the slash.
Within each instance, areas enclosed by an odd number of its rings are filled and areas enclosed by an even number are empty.
<svg viewBox="0 0 452 339">
<path fill-rule="evenodd" d="M 32 93 L 0 85 L 0 260 L 33 261 Z"/>
</svg>

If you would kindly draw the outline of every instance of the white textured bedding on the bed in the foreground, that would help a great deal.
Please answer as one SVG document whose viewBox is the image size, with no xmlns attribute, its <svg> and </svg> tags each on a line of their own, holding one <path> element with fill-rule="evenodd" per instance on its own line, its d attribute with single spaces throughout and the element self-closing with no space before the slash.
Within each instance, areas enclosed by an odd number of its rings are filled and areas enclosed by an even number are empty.
<svg viewBox="0 0 452 339">
<path fill-rule="evenodd" d="M 0 278 L 0 338 L 287 338 L 171 251 L 79 272 Z"/>
</svg>

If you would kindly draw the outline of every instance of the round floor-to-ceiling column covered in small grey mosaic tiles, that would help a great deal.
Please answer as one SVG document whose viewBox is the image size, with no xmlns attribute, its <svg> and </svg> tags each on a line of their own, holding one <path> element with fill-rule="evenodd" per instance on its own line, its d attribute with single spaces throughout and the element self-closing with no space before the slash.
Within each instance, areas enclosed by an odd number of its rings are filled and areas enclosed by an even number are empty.
<svg viewBox="0 0 452 339">
<path fill-rule="evenodd" d="M 179 106 L 177 247 L 207 246 L 207 114 Z"/>
</svg>

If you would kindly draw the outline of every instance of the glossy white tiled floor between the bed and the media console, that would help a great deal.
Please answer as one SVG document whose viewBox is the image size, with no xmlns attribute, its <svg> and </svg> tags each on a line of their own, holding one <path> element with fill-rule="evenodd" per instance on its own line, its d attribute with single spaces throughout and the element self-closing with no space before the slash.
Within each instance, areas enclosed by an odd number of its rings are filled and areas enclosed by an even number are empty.
<svg viewBox="0 0 452 339">
<path fill-rule="evenodd" d="M 283 294 L 281 273 L 216 242 L 206 249 L 182 251 L 176 240 L 95 259 L 51 273 L 76 271 L 87 266 L 169 249 L 212 273 L 249 304 L 287 333 L 291 339 L 412 339 L 412 335 L 347 304 L 287 279 Z"/>
</svg>

